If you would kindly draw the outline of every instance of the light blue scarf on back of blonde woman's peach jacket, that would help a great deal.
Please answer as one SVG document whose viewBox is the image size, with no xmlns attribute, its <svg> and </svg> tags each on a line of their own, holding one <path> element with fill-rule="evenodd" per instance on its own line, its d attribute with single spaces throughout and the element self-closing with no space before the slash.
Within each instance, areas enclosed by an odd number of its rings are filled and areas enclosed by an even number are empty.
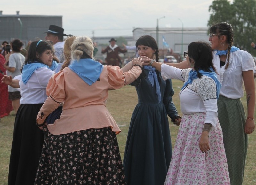
<svg viewBox="0 0 256 185">
<path fill-rule="evenodd" d="M 95 83 L 103 70 L 102 64 L 90 58 L 75 60 L 68 67 L 88 85 Z"/>
</svg>

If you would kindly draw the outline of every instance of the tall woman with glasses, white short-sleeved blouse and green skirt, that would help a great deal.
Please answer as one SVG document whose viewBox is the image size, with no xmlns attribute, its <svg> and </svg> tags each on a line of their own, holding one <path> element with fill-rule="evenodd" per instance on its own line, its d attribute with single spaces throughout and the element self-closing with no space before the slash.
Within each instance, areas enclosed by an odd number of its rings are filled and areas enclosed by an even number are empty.
<svg viewBox="0 0 256 185">
<path fill-rule="evenodd" d="M 210 28 L 213 64 L 222 84 L 218 100 L 218 118 L 223 131 L 231 184 L 242 184 L 248 148 L 248 134 L 255 130 L 255 63 L 252 56 L 232 46 L 233 29 L 226 22 Z M 240 98 L 247 99 L 247 117 Z"/>
</svg>

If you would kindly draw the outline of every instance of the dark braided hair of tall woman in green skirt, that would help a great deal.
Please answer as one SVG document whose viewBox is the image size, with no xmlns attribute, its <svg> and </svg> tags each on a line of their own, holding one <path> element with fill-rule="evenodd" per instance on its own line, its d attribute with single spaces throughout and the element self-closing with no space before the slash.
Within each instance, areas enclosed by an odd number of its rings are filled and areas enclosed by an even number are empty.
<svg viewBox="0 0 256 185">
<path fill-rule="evenodd" d="M 225 35 L 227 37 L 227 43 L 228 43 L 228 53 L 227 53 L 227 57 L 228 57 L 228 62 L 226 64 L 225 69 L 228 68 L 229 66 L 229 58 L 230 58 L 230 50 L 231 47 L 233 45 L 233 41 L 234 41 L 234 33 L 233 33 L 233 28 L 230 24 L 226 23 L 226 22 L 221 22 L 218 24 L 213 25 L 210 28 L 210 33 L 218 33 L 220 35 L 217 35 L 219 38 L 221 35 Z"/>
</svg>

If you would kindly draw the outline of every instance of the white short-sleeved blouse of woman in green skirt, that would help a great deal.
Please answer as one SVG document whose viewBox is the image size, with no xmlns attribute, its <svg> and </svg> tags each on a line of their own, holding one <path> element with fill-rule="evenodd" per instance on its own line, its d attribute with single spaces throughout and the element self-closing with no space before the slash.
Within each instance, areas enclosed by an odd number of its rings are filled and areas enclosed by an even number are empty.
<svg viewBox="0 0 256 185">
<path fill-rule="evenodd" d="M 243 50 L 237 50 L 230 53 L 229 66 L 226 64 L 220 67 L 220 57 L 213 54 L 213 64 L 218 73 L 218 80 L 221 83 L 220 95 L 227 98 L 238 99 L 244 96 L 243 90 L 243 71 L 255 70 L 255 63 L 252 55 Z"/>
</svg>

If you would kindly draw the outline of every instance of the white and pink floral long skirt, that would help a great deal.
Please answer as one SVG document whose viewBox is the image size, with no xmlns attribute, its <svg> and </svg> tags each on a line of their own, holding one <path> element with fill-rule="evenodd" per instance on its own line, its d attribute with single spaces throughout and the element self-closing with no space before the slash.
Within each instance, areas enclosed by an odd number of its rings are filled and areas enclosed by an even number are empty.
<svg viewBox="0 0 256 185">
<path fill-rule="evenodd" d="M 230 184 L 219 121 L 209 133 L 209 152 L 202 153 L 199 149 L 204 120 L 205 113 L 183 115 L 166 185 Z"/>
</svg>

